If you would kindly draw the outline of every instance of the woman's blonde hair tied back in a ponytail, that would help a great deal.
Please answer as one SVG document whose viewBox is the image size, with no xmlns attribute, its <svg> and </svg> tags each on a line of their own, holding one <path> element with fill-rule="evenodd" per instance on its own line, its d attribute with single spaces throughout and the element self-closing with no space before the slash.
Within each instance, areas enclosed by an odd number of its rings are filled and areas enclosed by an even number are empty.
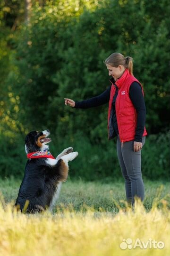
<svg viewBox="0 0 170 256">
<path fill-rule="evenodd" d="M 122 65 L 128 69 L 130 74 L 133 75 L 133 61 L 134 60 L 132 57 L 124 57 L 120 53 L 113 53 L 104 61 L 104 64 L 109 64 L 112 67 Z"/>
</svg>

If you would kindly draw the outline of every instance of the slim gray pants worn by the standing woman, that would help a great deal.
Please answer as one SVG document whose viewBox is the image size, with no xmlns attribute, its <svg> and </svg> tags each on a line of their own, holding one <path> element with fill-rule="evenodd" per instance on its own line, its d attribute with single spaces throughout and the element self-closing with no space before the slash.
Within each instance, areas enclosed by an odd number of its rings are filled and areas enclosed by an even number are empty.
<svg viewBox="0 0 170 256">
<path fill-rule="evenodd" d="M 145 143 L 145 136 L 142 137 L 142 146 Z M 125 179 L 125 190 L 127 202 L 134 205 L 134 197 L 144 200 L 144 182 L 141 172 L 141 150 L 134 152 L 134 141 L 121 142 L 117 137 L 117 155 L 121 172 Z"/>
</svg>

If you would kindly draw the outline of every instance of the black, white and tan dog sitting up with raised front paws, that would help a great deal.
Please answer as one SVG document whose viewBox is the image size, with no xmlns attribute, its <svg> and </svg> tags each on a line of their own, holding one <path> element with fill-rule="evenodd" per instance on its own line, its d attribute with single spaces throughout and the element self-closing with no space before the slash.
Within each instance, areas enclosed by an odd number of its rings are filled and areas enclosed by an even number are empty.
<svg viewBox="0 0 170 256">
<path fill-rule="evenodd" d="M 61 183 L 68 177 L 68 161 L 78 155 L 72 147 L 64 149 L 56 158 L 50 151 L 49 130 L 32 131 L 26 135 L 27 163 L 15 207 L 24 213 L 52 210 L 59 196 Z"/>
</svg>

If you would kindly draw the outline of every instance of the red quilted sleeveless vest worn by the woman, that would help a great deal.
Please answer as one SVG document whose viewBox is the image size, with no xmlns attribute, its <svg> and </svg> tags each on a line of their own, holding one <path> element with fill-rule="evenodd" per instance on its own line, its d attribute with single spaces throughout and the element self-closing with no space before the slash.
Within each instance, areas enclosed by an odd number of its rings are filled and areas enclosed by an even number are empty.
<svg viewBox="0 0 170 256">
<path fill-rule="evenodd" d="M 132 82 L 140 82 L 129 73 L 128 69 L 125 70 L 123 75 L 115 82 L 118 86 L 118 96 L 116 98 L 116 118 L 118 123 L 119 137 L 120 141 L 126 142 L 134 140 L 136 133 L 136 123 L 137 123 L 137 113 L 136 109 L 129 97 L 129 88 Z M 141 85 L 141 84 L 140 84 Z M 141 85 L 142 87 L 142 85 Z M 110 101 L 108 110 L 108 137 L 109 135 L 109 120 L 111 112 L 111 104 L 113 101 L 113 96 L 115 94 L 116 88 L 112 84 L 110 91 Z M 144 94 L 143 88 L 142 92 Z M 146 128 L 144 127 L 143 136 L 147 135 Z"/>
</svg>

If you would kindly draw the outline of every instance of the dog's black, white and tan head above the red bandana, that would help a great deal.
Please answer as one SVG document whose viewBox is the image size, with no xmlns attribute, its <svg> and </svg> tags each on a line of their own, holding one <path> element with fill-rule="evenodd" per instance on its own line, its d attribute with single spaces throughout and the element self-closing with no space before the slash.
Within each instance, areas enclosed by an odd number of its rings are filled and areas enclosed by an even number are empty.
<svg viewBox="0 0 170 256">
<path fill-rule="evenodd" d="M 35 151 L 41 151 L 44 148 L 48 148 L 47 143 L 51 142 L 51 138 L 48 138 L 50 135 L 49 130 L 45 130 L 42 132 L 32 131 L 26 135 L 25 139 L 25 147 L 26 154 L 32 153 Z"/>
</svg>

